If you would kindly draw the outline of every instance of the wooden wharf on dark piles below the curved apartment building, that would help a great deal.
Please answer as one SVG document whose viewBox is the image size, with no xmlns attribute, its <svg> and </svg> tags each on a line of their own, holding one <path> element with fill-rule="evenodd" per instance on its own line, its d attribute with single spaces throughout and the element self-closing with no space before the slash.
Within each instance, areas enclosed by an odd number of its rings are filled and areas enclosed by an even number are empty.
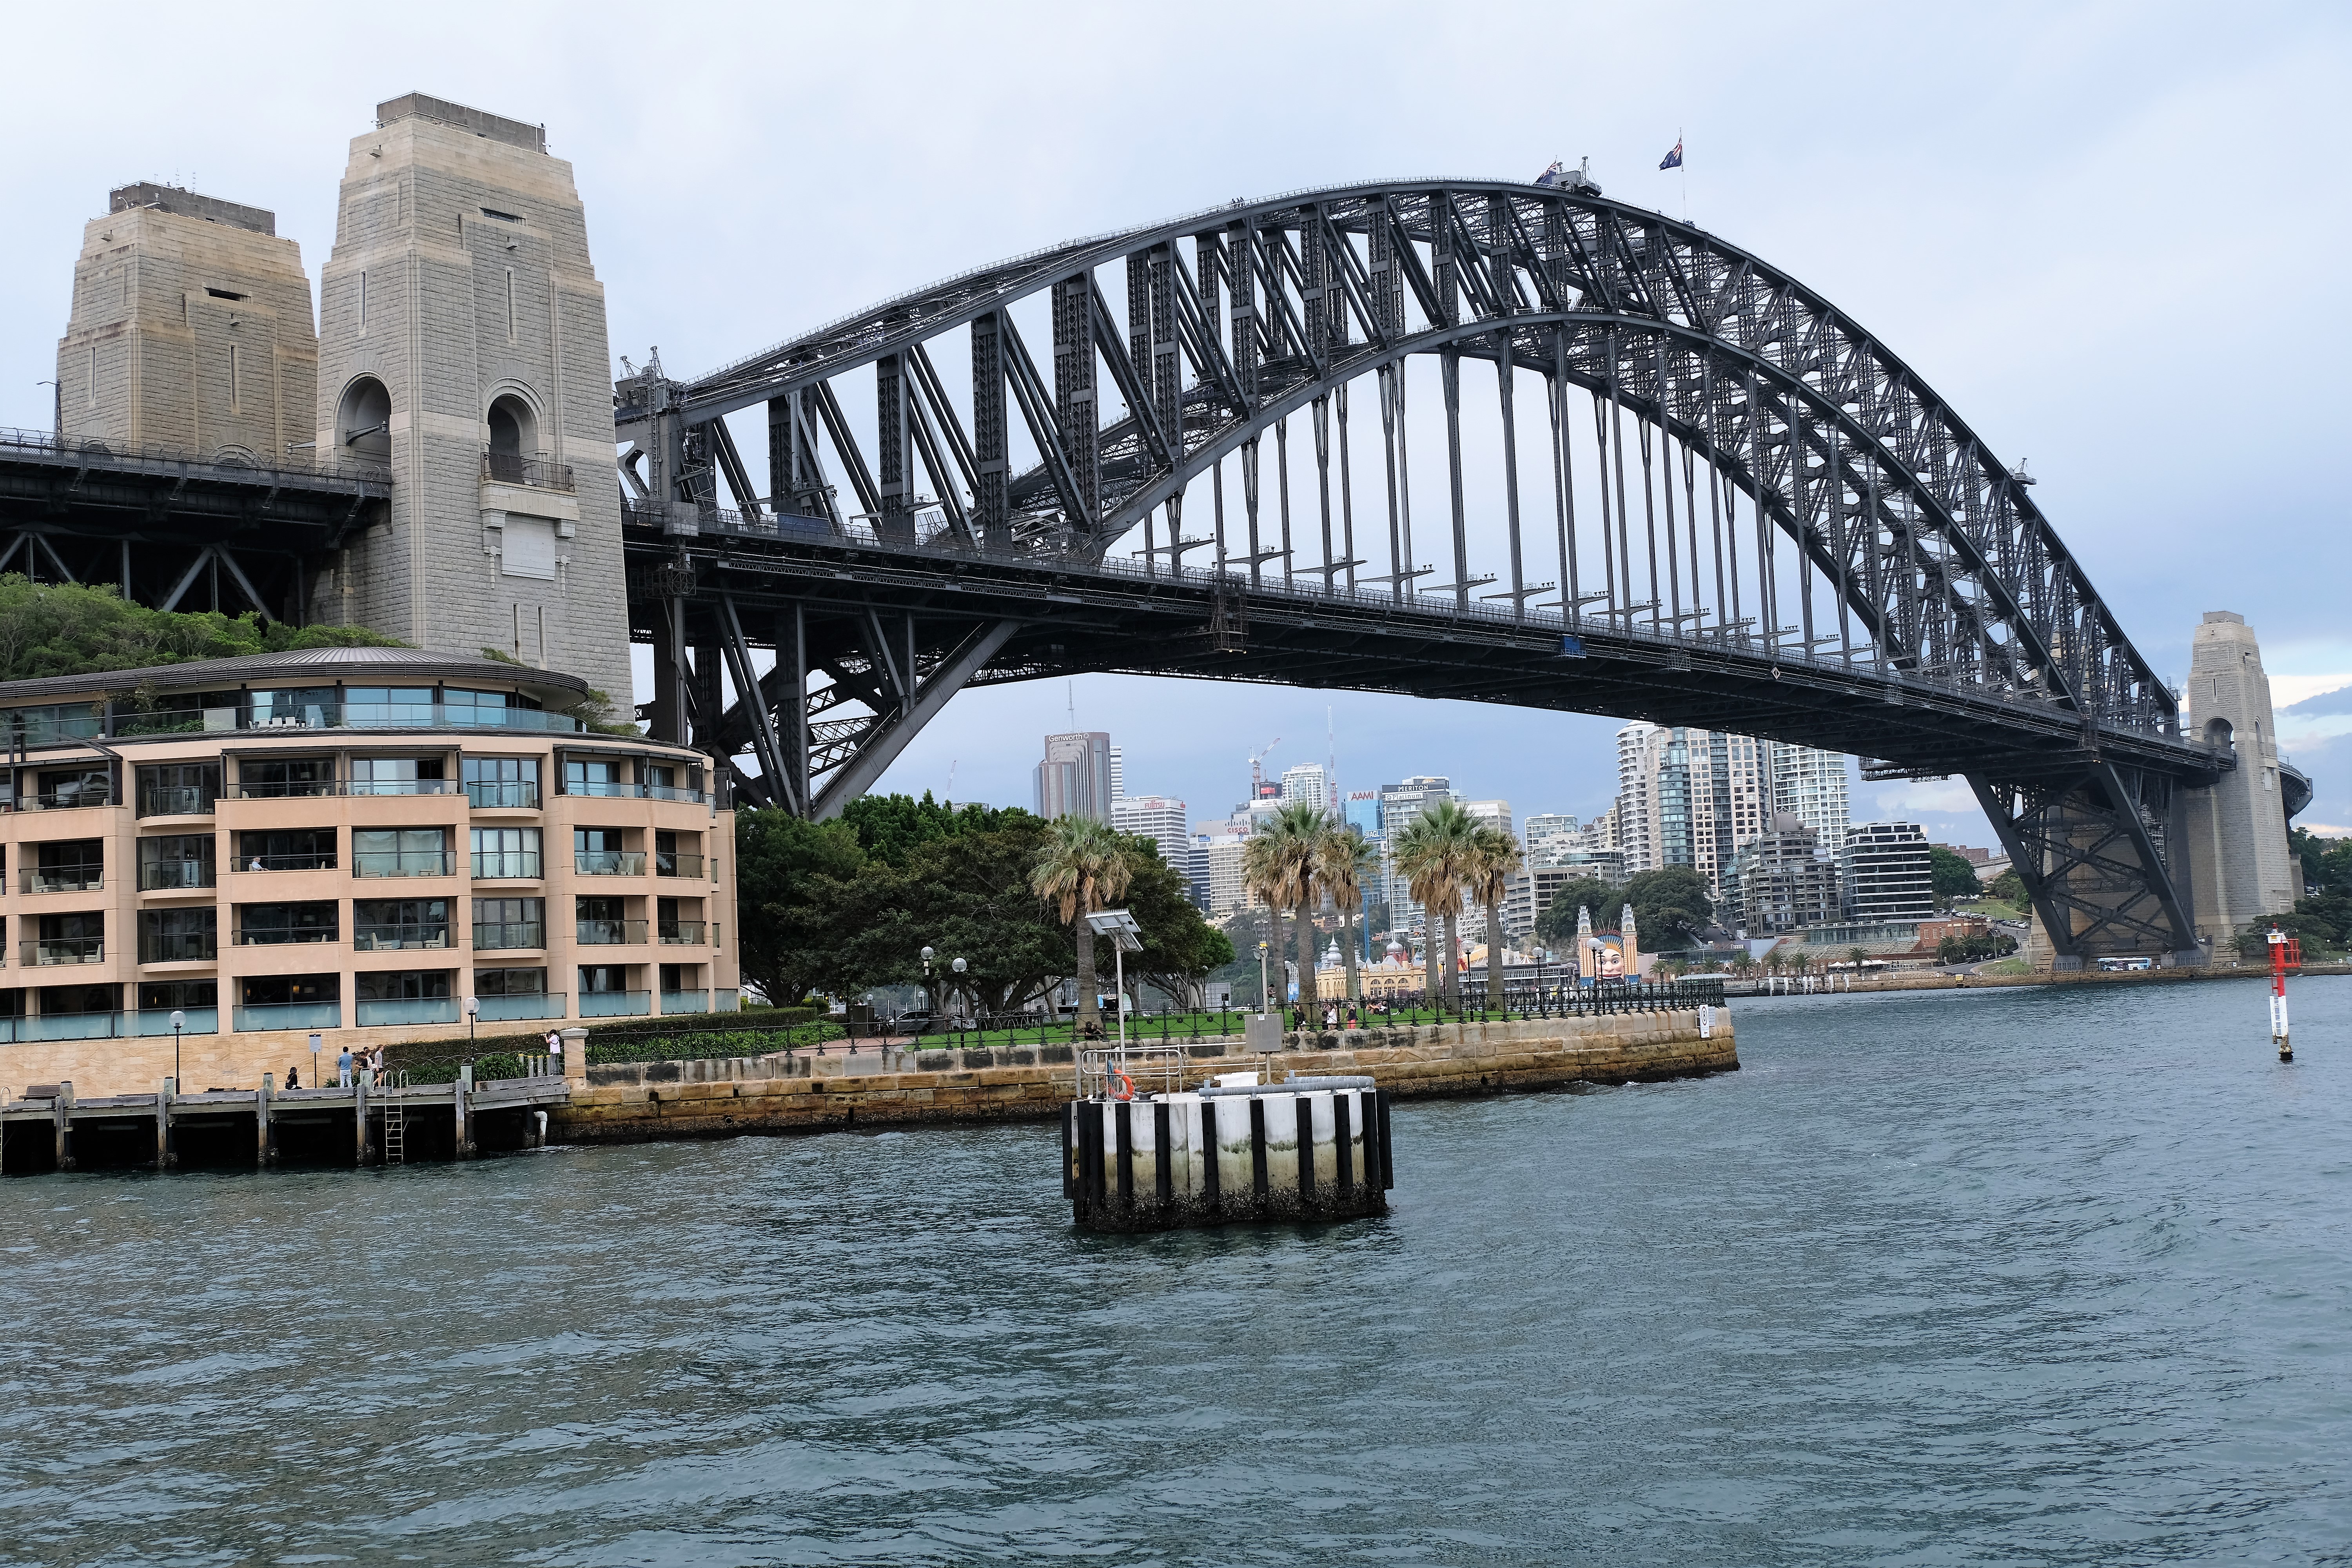
<svg viewBox="0 0 2352 1568">
<path fill-rule="evenodd" d="M 546 1112 L 569 1103 L 557 1074 L 461 1077 L 452 1084 L 350 1088 L 205 1088 L 75 1098 L 73 1084 L 40 1086 L 0 1105 L 0 1175 L 35 1171 L 172 1168 L 191 1152 L 202 1164 L 275 1166 L 280 1159 L 407 1164 L 529 1150 L 546 1140 Z"/>
</svg>

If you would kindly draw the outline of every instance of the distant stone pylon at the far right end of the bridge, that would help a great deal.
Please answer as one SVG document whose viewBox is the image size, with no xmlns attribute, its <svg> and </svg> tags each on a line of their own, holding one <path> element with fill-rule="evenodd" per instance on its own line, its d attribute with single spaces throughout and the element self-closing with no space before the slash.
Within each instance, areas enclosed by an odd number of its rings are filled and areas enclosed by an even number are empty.
<svg viewBox="0 0 2352 1568">
<path fill-rule="evenodd" d="M 2237 766 L 2209 790 L 2183 790 L 2180 837 L 2190 922 L 2211 957 L 2230 959 L 2230 938 L 2265 914 L 2296 907 L 2298 865 L 2286 844 L 2279 731 L 2270 715 L 2263 649 L 2244 616 L 2206 611 L 2190 644 L 2183 693 L 2190 736 L 2230 750 Z"/>
</svg>

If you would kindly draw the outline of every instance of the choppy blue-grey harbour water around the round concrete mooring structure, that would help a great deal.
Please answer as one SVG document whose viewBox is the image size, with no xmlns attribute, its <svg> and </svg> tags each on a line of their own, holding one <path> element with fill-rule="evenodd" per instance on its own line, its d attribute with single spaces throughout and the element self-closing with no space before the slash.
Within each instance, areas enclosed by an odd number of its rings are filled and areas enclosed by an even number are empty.
<svg viewBox="0 0 2352 1568">
<path fill-rule="evenodd" d="M 2352 980 L 1740 1004 L 1077 1237 L 1049 1128 L 0 1185 L 0 1561 L 2352 1552 Z"/>
</svg>

